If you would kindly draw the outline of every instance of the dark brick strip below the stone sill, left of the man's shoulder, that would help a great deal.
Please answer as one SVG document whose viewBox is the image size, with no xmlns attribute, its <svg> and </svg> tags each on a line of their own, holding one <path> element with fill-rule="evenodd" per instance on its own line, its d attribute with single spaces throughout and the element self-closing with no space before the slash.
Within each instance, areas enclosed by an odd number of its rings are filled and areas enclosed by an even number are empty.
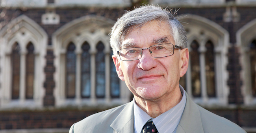
<svg viewBox="0 0 256 133">
<path fill-rule="evenodd" d="M 70 128 L 95 111 L 11 111 L 0 112 L 0 129 Z"/>
</svg>

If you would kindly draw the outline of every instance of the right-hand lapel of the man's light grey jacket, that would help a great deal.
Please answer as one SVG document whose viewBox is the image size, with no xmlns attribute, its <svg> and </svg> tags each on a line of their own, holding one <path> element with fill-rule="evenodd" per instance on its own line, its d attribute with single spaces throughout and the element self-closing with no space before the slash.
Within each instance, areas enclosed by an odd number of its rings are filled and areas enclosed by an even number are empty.
<svg viewBox="0 0 256 133">
<path fill-rule="evenodd" d="M 200 112 L 186 92 L 186 105 L 176 133 L 204 133 Z"/>
</svg>

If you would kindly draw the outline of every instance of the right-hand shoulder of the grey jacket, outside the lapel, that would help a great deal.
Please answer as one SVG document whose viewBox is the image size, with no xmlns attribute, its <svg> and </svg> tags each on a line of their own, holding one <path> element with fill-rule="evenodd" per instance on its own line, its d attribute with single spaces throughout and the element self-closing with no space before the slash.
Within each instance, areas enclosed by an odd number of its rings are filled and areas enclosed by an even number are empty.
<svg viewBox="0 0 256 133">
<path fill-rule="evenodd" d="M 246 133 L 234 122 L 198 106 L 204 132 Z"/>
</svg>

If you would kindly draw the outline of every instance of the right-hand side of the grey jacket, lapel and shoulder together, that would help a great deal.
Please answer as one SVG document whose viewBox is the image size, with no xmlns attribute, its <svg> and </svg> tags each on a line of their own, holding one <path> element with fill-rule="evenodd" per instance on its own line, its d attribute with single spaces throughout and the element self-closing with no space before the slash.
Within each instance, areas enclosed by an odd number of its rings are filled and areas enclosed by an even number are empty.
<svg viewBox="0 0 256 133">
<path fill-rule="evenodd" d="M 186 105 L 180 120 L 181 131 L 195 133 L 246 133 L 241 127 L 224 117 L 200 107 L 186 93 Z M 178 130 L 178 129 L 177 129 Z"/>
</svg>

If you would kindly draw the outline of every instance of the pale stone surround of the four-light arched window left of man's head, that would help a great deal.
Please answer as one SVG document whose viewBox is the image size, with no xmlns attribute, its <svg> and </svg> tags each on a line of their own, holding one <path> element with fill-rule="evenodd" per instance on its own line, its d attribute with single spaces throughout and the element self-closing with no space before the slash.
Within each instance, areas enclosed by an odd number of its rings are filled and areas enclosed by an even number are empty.
<svg viewBox="0 0 256 133">
<path fill-rule="evenodd" d="M 80 96 L 80 84 L 81 81 L 78 81 L 76 83 L 76 98 L 72 100 L 74 104 L 80 104 L 80 102 L 83 102 L 85 104 L 97 104 L 97 99 L 95 96 L 95 55 L 97 54 L 96 45 L 99 41 L 101 41 L 104 46 L 104 52 L 106 55 L 106 77 L 110 76 L 109 74 L 109 58 L 107 58 L 109 51 L 111 50 L 109 47 L 109 33 L 111 31 L 111 27 L 114 25 L 114 21 L 100 17 L 100 16 L 83 16 L 81 18 L 78 18 L 76 20 L 73 20 L 62 27 L 60 27 L 54 34 L 52 35 L 52 44 L 54 48 L 54 55 L 55 55 L 55 62 L 56 65 L 56 72 L 54 74 L 54 80 L 56 81 L 55 86 L 55 92 L 54 95 L 56 97 L 56 106 L 66 106 L 69 104 L 69 101 L 65 99 L 65 92 L 63 89 L 65 83 L 65 75 L 63 75 L 65 68 L 65 46 L 69 41 L 72 40 L 74 44 L 76 45 L 76 59 L 77 59 L 77 79 L 81 79 L 80 77 L 80 58 L 82 53 L 82 44 L 87 41 L 90 45 L 89 53 L 91 54 L 91 97 L 89 99 L 82 99 Z M 109 80 L 109 78 L 106 78 L 106 80 Z M 109 81 L 106 81 L 106 97 L 104 98 L 105 103 L 111 104 L 111 98 L 109 95 Z M 126 94 L 123 93 L 122 99 L 123 101 L 126 101 L 128 97 L 126 98 Z M 87 100 L 87 102 L 85 102 Z"/>
</svg>

